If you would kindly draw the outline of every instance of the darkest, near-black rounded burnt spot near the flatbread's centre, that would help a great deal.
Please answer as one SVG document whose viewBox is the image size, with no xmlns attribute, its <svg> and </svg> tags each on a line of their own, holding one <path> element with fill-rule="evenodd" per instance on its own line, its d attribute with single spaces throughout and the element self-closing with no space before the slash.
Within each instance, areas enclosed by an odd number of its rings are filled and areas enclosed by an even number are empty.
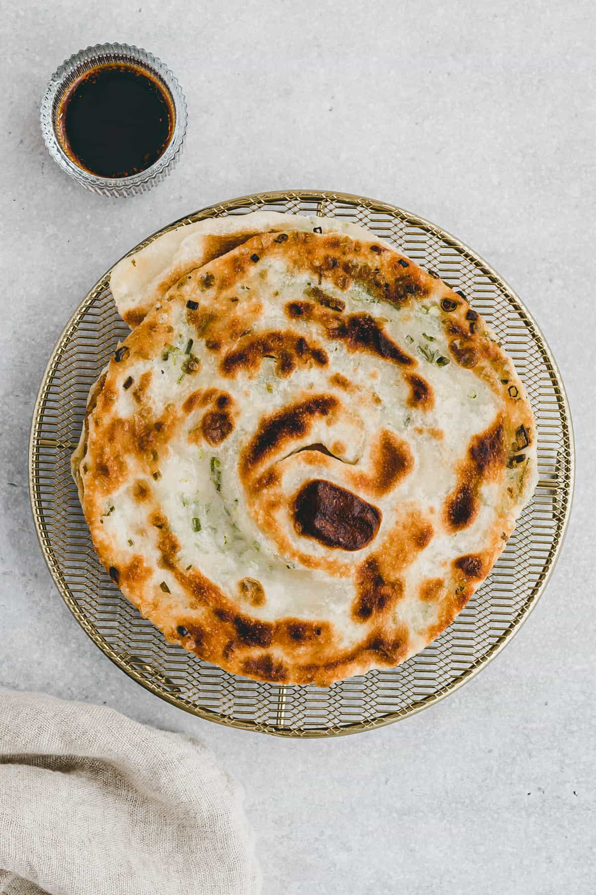
<svg viewBox="0 0 596 895">
<path fill-rule="evenodd" d="M 306 482 L 292 501 L 294 527 L 326 547 L 362 550 L 374 539 L 381 511 L 333 482 Z"/>
</svg>

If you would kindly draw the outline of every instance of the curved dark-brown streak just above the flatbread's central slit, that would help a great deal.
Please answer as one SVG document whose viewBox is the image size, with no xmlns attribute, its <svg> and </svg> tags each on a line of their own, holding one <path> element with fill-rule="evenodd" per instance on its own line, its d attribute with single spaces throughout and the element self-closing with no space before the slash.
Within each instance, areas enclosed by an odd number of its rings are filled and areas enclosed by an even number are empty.
<svg viewBox="0 0 596 895">
<path fill-rule="evenodd" d="M 240 468 L 243 476 L 247 476 L 280 447 L 303 438 L 310 431 L 315 417 L 329 416 L 338 407 L 336 397 L 315 395 L 265 417 L 242 452 Z"/>
</svg>

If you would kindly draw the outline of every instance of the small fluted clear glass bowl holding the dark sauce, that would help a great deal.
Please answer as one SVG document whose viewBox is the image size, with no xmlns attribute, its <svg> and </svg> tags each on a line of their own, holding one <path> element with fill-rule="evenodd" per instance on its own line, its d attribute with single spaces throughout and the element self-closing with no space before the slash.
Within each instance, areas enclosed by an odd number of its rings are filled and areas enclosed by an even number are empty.
<svg viewBox="0 0 596 895">
<path fill-rule="evenodd" d="M 60 115 L 63 110 L 62 101 L 65 94 L 82 74 L 97 65 L 110 63 L 133 64 L 141 71 L 147 72 L 155 78 L 155 81 L 172 99 L 174 126 L 170 142 L 163 155 L 153 165 L 130 177 L 100 177 L 91 174 L 67 155 L 60 139 Z M 41 132 L 46 141 L 46 147 L 66 174 L 74 178 L 81 186 L 101 195 L 132 196 L 137 192 L 145 192 L 155 183 L 164 180 L 164 177 L 177 163 L 186 133 L 187 112 L 186 100 L 180 89 L 180 84 L 170 69 L 155 55 L 147 53 L 139 47 L 130 47 L 129 44 L 97 44 L 95 47 L 87 47 L 86 50 L 80 50 L 79 53 L 71 55 L 71 58 L 65 60 L 54 72 L 41 102 L 40 118 Z"/>
</svg>

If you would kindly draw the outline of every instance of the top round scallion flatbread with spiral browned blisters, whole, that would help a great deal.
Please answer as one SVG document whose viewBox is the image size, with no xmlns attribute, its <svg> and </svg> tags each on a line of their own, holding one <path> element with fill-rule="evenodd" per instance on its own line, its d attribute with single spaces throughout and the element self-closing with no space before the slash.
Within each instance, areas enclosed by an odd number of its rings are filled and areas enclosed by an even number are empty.
<svg viewBox="0 0 596 895">
<path fill-rule="evenodd" d="M 256 235 L 152 293 L 73 458 L 141 613 L 284 684 L 422 650 L 536 482 L 525 389 L 466 299 L 372 234 L 322 231 Z"/>
</svg>

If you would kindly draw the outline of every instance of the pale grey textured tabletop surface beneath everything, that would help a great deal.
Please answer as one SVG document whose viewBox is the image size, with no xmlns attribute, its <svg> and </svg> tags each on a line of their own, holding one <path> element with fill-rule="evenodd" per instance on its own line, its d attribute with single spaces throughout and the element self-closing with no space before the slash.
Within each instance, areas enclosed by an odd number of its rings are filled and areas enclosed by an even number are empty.
<svg viewBox="0 0 596 895">
<path fill-rule="evenodd" d="M 594 28 L 590 0 L 4 10 L 0 685 L 202 737 L 247 789 L 265 895 L 594 891 Z M 159 55 L 189 104 L 180 166 L 130 200 L 69 181 L 39 134 L 51 72 L 104 40 Z M 565 550 L 516 639 L 433 709 L 329 741 L 219 728 L 126 678 L 60 600 L 27 494 L 39 379 L 88 287 L 175 217 L 292 186 L 395 202 L 480 251 L 549 339 L 577 441 Z"/>
</svg>

